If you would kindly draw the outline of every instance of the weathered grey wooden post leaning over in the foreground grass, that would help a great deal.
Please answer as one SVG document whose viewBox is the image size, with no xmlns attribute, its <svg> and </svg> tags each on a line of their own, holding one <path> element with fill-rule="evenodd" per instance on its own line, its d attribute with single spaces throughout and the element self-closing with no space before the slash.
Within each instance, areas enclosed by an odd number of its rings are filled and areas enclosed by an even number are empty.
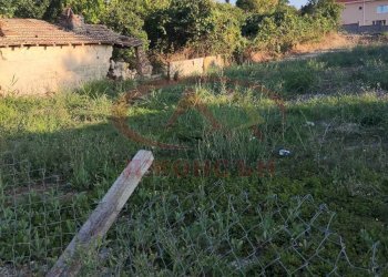
<svg viewBox="0 0 388 277">
<path fill-rule="evenodd" d="M 153 161 L 150 151 L 137 152 L 48 273 L 48 277 L 78 274 L 82 263 L 74 260 L 75 254 L 79 250 L 90 250 L 90 247 L 106 234 Z"/>
</svg>

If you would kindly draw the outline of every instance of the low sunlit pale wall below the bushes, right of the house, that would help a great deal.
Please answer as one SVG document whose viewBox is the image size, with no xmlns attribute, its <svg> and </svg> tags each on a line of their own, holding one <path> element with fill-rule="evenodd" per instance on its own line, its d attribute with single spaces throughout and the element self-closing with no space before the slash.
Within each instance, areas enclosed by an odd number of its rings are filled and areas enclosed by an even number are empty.
<svg viewBox="0 0 388 277">
<path fill-rule="evenodd" d="M 204 74 L 211 68 L 224 68 L 226 61 L 222 55 L 212 55 L 192 60 L 175 61 L 169 64 L 170 79 Z"/>
</svg>

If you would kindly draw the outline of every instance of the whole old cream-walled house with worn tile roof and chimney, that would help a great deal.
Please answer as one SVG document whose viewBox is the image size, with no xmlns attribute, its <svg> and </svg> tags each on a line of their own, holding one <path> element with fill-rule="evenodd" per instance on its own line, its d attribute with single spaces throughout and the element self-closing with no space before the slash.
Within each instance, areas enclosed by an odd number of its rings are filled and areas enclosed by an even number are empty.
<svg viewBox="0 0 388 277">
<path fill-rule="evenodd" d="M 103 79 L 114 47 L 134 48 L 137 73 L 151 74 L 141 40 L 104 25 L 85 24 L 71 9 L 58 22 L 0 19 L 1 94 L 44 94 Z"/>
</svg>

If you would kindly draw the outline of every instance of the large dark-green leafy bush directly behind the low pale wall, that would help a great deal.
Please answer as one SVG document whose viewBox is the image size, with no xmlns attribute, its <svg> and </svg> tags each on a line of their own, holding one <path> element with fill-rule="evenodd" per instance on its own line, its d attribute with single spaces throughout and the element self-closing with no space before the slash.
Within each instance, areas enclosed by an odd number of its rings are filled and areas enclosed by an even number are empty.
<svg viewBox="0 0 388 277">
<path fill-rule="evenodd" d="M 192 48 L 198 53 L 232 53 L 241 45 L 242 12 L 211 0 L 173 0 L 145 20 L 151 48 L 173 53 Z"/>
</svg>

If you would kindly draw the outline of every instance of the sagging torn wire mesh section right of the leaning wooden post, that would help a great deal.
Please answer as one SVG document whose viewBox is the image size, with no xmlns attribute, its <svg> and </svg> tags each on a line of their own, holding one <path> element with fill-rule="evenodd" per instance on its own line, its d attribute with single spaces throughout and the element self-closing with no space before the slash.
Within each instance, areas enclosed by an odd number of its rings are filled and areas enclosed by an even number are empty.
<svg viewBox="0 0 388 277">
<path fill-rule="evenodd" d="M 210 196 L 212 195 L 212 196 Z M 118 271 L 176 276 L 375 275 L 375 252 L 358 266 L 331 230 L 335 213 L 310 195 L 255 203 L 222 182 L 185 197 L 160 196 L 115 226 L 126 253 Z M 123 227 L 125 226 L 125 227 Z M 127 242 L 127 243 L 125 243 Z M 377 245 L 374 246 L 376 250 Z"/>
</svg>

